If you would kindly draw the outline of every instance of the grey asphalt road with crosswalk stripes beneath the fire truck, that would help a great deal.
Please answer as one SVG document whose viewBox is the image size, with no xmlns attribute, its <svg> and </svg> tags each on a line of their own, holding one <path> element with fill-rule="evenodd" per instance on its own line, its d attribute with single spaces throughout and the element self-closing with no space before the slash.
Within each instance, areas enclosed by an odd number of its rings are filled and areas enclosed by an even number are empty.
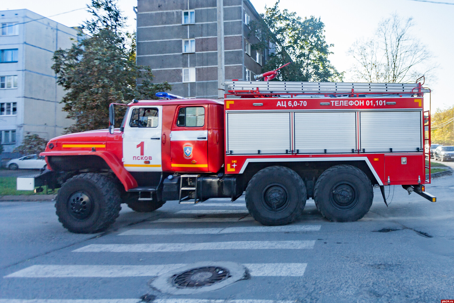
<svg viewBox="0 0 454 303">
<path fill-rule="evenodd" d="M 213 199 L 170 201 L 150 214 L 123 204 L 117 222 L 94 235 L 63 229 L 52 202 L 2 202 L 0 303 L 137 303 L 143 295 L 158 303 L 453 299 L 454 176 L 426 186 L 437 203 L 401 186 L 388 190 L 389 208 L 375 189 L 370 212 L 353 223 L 323 219 L 309 200 L 294 224 L 263 227 L 246 214 L 244 200 Z M 197 294 L 149 286 L 156 275 L 200 261 L 235 262 L 250 276 Z"/>
</svg>

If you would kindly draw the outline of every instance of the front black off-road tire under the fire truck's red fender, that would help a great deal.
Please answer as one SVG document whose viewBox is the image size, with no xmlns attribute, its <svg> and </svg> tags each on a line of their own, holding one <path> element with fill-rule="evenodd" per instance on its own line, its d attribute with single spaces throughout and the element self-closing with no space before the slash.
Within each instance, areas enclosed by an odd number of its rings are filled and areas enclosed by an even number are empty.
<svg viewBox="0 0 454 303">
<path fill-rule="evenodd" d="M 102 174 L 79 174 L 59 189 L 55 208 L 59 221 L 73 233 L 98 233 L 118 218 L 120 192 Z"/>
</svg>

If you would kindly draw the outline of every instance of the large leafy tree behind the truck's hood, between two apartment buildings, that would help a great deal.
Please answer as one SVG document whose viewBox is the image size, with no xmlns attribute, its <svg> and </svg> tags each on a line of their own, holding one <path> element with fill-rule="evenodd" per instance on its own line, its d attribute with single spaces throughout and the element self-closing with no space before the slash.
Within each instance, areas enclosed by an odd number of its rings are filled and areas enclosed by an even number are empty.
<svg viewBox="0 0 454 303">
<path fill-rule="evenodd" d="M 68 91 L 63 110 L 76 120 L 66 133 L 107 128 L 110 103 L 158 99 L 157 91 L 171 89 L 167 82 L 153 84 L 151 69 L 136 65 L 135 33 L 122 32 L 126 18 L 116 0 L 92 0 L 88 8 L 93 15 L 83 26 L 88 35 L 79 33 L 70 49 L 57 50 L 53 57 L 57 82 Z M 122 112 L 118 109 L 117 125 Z"/>
</svg>

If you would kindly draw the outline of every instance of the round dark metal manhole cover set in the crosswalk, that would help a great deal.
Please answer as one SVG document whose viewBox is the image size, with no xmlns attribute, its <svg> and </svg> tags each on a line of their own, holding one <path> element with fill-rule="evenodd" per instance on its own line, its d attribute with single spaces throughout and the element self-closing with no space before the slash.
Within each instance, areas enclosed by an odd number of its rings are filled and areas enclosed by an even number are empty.
<svg viewBox="0 0 454 303">
<path fill-rule="evenodd" d="M 214 283 L 221 282 L 228 277 L 229 271 L 226 268 L 206 266 L 192 268 L 180 273 L 173 278 L 172 283 L 178 288 L 194 288 L 210 286 Z"/>
</svg>

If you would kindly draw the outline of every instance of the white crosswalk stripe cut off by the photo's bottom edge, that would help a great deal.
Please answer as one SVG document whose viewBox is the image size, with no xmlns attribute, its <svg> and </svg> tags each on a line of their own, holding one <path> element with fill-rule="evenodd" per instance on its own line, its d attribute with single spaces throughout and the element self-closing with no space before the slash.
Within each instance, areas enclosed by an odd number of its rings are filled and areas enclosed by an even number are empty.
<svg viewBox="0 0 454 303">
<path fill-rule="evenodd" d="M 141 303 L 141 299 L 0 299 L 0 303 Z M 295 303 L 273 300 L 154 299 L 153 303 Z"/>
</svg>

